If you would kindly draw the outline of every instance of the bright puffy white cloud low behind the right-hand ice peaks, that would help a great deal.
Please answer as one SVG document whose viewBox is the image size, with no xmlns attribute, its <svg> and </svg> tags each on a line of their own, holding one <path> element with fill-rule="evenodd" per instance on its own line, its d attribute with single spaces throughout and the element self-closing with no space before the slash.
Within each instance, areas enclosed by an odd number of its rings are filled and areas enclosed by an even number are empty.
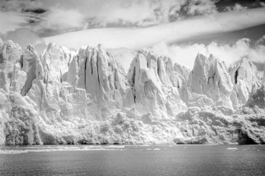
<svg viewBox="0 0 265 176">
<path fill-rule="evenodd" d="M 164 42 L 161 42 L 146 49 L 152 50 L 158 55 L 170 57 L 173 63 L 177 62 L 190 70 L 194 66 L 195 57 L 198 53 L 202 53 L 207 57 L 212 53 L 216 58 L 224 61 L 228 67 L 244 57 L 250 61 L 265 63 L 265 46 L 259 45 L 256 48 L 251 48 L 249 42 L 250 40 L 247 38 L 239 39 L 232 45 L 212 42 L 209 45 L 168 46 Z M 114 55 L 126 71 L 129 69 L 130 63 L 136 55 L 135 51 L 124 48 L 110 50 L 110 53 Z"/>
</svg>

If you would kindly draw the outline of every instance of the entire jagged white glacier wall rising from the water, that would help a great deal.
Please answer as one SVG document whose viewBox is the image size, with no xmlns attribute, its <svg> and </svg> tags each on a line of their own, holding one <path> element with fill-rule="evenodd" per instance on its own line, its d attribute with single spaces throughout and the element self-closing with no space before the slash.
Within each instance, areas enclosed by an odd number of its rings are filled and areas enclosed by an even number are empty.
<svg viewBox="0 0 265 176">
<path fill-rule="evenodd" d="M 101 45 L 0 44 L 0 144 L 265 143 L 265 83 L 246 59 L 193 70 L 139 51 L 126 73 Z"/>
</svg>

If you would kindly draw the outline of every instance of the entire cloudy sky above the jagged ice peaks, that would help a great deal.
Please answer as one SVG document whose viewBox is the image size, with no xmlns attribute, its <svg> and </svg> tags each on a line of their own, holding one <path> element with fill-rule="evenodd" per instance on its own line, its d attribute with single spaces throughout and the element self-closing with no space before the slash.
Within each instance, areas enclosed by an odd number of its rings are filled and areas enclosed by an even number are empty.
<svg viewBox="0 0 265 176">
<path fill-rule="evenodd" d="M 265 62 L 265 0 L 0 0 L 0 38 L 41 53 L 101 43 L 128 70 L 153 50 L 190 70 L 197 53 Z"/>
</svg>

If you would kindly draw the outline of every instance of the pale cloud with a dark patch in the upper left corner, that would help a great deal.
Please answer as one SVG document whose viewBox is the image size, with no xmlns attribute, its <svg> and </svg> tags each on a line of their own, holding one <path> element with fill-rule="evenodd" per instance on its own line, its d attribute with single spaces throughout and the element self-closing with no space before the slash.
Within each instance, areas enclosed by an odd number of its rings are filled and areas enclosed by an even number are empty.
<svg viewBox="0 0 265 176">
<path fill-rule="evenodd" d="M 87 27 L 85 16 L 77 8 L 62 9 L 56 5 L 46 8 L 43 7 L 43 3 L 46 1 L 1 1 L 0 32 L 4 34 L 17 28 L 27 27 L 37 34 L 54 35 Z M 36 12 L 37 10 L 42 12 Z"/>
</svg>

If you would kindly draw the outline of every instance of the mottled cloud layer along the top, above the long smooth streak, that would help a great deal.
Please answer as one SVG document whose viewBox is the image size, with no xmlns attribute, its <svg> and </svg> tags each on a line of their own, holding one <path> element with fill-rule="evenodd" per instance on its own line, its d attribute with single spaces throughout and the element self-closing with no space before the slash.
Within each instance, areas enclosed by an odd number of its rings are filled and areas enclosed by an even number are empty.
<svg viewBox="0 0 265 176">
<path fill-rule="evenodd" d="M 216 0 L 1 0 L 0 11 L 9 19 L 5 30 L 28 27 L 41 36 L 83 28 L 146 27 L 194 15 L 217 12 Z"/>
</svg>

